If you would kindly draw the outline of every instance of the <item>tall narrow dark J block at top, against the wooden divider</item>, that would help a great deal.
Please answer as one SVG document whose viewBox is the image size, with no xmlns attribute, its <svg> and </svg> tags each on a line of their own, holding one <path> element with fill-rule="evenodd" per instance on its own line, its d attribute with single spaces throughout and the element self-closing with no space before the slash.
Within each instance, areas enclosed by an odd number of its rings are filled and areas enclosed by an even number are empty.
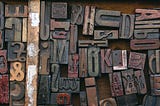
<svg viewBox="0 0 160 106">
<path fill-rule="evenodd" d="M 40 38 L 42 40 L 47 40 L 49 38 L 50 8 L 51 3 L 49 1 L 41 2 Z"/>
</svg>

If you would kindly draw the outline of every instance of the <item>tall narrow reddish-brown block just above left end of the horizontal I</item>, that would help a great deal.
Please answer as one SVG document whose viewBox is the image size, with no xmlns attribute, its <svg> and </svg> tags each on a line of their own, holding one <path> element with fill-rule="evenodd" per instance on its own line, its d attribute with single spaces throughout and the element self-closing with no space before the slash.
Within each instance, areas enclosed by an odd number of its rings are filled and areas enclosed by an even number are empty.
<svg viewBox="0 0 160 106">
<path fill-rule="evenodd" d="M 77 25 L 71 25 L 69 53 L 77 53 L 78 28 Z"/>
</svg>

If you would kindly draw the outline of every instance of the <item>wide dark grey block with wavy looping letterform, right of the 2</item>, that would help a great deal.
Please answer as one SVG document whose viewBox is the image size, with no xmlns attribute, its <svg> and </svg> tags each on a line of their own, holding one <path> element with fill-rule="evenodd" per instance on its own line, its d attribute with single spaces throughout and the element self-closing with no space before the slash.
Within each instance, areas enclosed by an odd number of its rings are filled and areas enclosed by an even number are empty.
<svg viewBox="0 0 160 106">
<path fill-rule="evenodd" d="M 78 93 L 80 91 L 79 78 L 59 78 L 59 92 Z"/>
</svg>

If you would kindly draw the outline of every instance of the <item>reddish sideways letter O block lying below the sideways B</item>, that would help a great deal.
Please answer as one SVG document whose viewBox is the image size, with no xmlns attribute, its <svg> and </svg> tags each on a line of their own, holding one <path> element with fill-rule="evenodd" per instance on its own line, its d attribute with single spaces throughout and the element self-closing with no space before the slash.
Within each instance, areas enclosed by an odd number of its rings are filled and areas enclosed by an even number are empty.
<svg viewBox="0 0 160 106">
<path fill-rule="evenodd" d="M 160 47 L 159 39 L 134 39 L 130 41 L 130 48 L 132 50 L 151 50 Z"/>
</svg>

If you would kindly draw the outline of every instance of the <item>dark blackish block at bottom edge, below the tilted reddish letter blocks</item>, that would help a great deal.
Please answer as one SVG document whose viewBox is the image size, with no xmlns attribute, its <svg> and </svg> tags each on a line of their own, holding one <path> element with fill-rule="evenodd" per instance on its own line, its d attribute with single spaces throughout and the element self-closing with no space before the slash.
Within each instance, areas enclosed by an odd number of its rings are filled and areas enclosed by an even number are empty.
<svg viewBox="0 0 160 106">
<path fill-rule="evenodd" d="M 136 94 L 116 97 L 116 101 L 118 106 L 138 106 L 138 98 Z"/>
</svg>

